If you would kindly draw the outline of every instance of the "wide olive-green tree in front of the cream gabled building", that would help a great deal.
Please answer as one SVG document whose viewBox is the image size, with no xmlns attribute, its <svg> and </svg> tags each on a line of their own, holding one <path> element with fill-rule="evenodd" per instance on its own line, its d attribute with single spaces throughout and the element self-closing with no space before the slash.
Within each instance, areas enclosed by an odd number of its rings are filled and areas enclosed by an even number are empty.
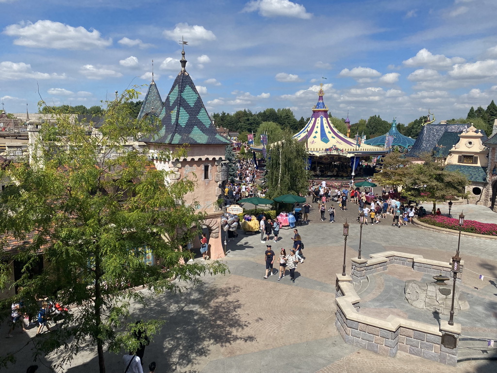
<svg viewBox="0 0 497 373">
<path fill-rule="evenodd" d="M 468 184 L 466 176 L 444 170 L 444 165 L 426 155 L 423 163 L 406 168 L 402 194 L 413 200 L 433 202 L 434 214 L 436 202 L 466 197 L 465 188 Z"/>
</svg>

